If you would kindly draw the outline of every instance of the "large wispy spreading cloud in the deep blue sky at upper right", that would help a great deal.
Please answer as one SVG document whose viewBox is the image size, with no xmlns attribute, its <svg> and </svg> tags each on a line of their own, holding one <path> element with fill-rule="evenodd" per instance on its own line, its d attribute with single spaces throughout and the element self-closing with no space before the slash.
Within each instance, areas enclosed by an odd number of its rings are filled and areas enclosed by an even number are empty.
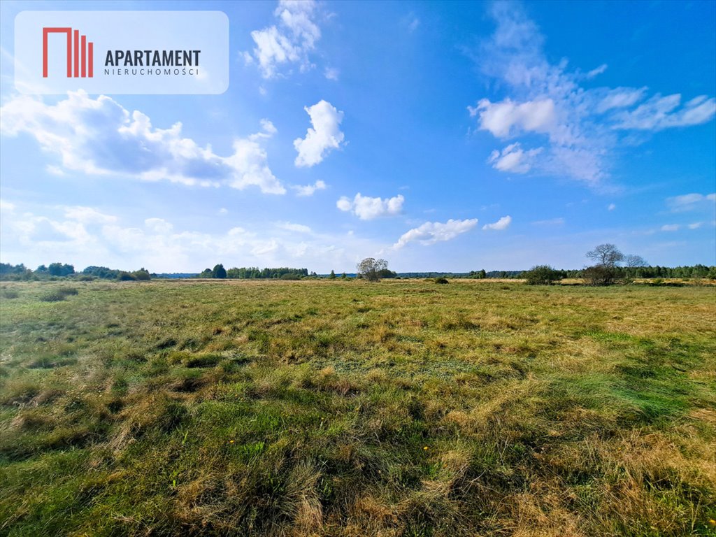
<svg viewBox="0 0 716 537">
<path fill-rule="evenodd" d="M 630 135 L 625 131 L 698 125 L 716 114 L 716 100 L 703 95 L 681 105 L 678 94 L 647 98 L 646 87 L 584 87 L 584 80 L 604 72 L 606 64 L 584 74 L 569 69 L 566 59 L 550 62 L 541 32 L 521 6 L 495 2 L 490 14 L 495 31 L 473 57 L 506 97 L 480 98 L 468 111 L 479 130 L 513 140 L 512 150 L 490 155 L 495 169 L 599 185 L 609 177 L 619 143 Z M 518 153 L 514 144 L 523 137 L 543 150 Z"/>
</svg>

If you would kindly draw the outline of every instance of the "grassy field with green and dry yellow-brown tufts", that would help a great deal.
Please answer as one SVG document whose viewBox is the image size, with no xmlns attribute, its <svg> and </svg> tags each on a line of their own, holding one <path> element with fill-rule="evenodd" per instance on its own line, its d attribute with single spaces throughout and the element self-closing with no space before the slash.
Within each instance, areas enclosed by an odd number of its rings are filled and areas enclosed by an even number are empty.
<svg viewBox="0 0 716 537">
<path fill-rule="evenodd" d="M 714 287 L 1 287 L 2 535 L 716 535 Z"/>
</svg>

